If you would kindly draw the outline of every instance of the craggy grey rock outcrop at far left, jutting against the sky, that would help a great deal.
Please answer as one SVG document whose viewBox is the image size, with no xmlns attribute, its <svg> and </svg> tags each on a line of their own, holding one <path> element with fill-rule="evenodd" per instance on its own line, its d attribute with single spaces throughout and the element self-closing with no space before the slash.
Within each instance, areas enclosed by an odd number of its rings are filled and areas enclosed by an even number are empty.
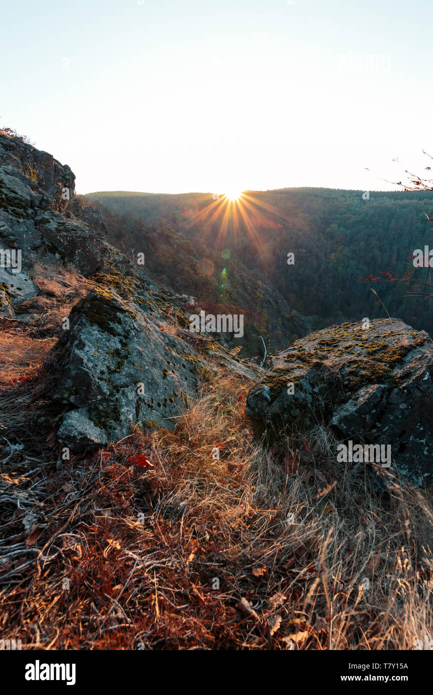
<svg viewBox="0 0 433 695">
<path fill-rule="evenodd" d="M 76 199 L 70 167 L 0 132 L 0 250 L 20 258 L 17 273 L 1 259 L 0 312 L 35 295 L 33 259 L 72 263 L 86 276 L 101 268 L 104 236 L 101 215 Z"/>
</svg>

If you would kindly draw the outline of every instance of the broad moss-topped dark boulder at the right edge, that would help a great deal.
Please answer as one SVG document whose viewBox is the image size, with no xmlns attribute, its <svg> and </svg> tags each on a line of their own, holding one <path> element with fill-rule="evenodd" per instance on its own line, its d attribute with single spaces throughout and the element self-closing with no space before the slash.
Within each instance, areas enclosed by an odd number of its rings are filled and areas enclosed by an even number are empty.
<svg viewBox="0 0 433 695">
<path fill-rule="evenodd" d="M 398 319 L 344 323 L 302 338 L 271 360 L 247 416 L 280 432 L 332 425 L 341 439 L 391 445 L 415 484 L 433 482 L 433 343 Z"/>
</svg>

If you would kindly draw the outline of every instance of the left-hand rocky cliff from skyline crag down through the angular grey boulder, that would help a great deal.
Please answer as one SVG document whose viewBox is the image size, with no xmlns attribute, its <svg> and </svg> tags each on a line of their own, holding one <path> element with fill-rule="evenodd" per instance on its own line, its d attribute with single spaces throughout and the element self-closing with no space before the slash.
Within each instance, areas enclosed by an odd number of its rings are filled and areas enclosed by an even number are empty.
<svg viewBox="0 0 433 695">
<path fill-rule="evenodd" d="M 81 451 L 136 426 L 172 429 L 209 368 L 192 344 L 201 338 L 184 330 L 185 297 L 106 242 L 101 215 L 76 197 L 74 180 L 50 154 L 0 133 L 1 313 L 47 332 L 50 301 L 68 292 L 79 300 L 51 325 L 59 339 L 47 370 L 58 441 Z M 19 268 L 9 262 L 17 254 Z M 222 345 L 220 354 L 240 364 Z"/>
</svg>

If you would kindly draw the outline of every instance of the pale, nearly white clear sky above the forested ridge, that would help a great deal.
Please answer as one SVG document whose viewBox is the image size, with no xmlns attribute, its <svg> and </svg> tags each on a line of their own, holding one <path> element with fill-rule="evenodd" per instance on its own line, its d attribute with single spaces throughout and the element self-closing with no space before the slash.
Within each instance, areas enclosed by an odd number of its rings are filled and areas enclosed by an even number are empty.
<svg viewBox="0 0 433 695">
<path fill-rule="evenodd" d="M 79 193 L 386 190 L 433 154 L 432 19 L 425 0 L 3 1 L 0 127 Z"/>
</svg>

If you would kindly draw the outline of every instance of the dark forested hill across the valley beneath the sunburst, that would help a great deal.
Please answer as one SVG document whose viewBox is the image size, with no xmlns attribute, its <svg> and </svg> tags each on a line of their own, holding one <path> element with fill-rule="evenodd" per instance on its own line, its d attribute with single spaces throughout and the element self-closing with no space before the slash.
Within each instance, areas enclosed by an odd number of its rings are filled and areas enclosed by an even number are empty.
<svg viewBox="0 0 433 695">
<path fill-rule="evenodd" d="M 284 188 L 246 192 L 241 202 L 204 193 L 104 192 L 98 202 L 111 240 L 174 290 L 260 314 L 272 347 L 281 297 L 312 328 L 391 316 L 433 333 L 430 301 L 408 297 L 408 283 L 365 282 L 382 272 L 423 279 L 415 249 L 433 246 L 433 192 Z M 288 265 L 288 254 L 294 264 Z M 412 287 L 413 289 L 413 287 Z M 275 291 L 276 300 L 269 295 Z M 271 297 L 272 299 L 272 297 Z M 284 302 L 286 310 L 286 302 Z"/>
</svg>

